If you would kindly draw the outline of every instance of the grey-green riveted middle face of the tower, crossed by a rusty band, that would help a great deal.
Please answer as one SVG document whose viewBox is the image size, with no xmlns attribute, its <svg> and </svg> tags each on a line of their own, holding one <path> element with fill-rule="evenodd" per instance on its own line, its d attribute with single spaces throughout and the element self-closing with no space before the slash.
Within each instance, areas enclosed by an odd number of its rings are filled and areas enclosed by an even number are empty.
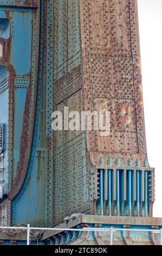
<svg viewBox="0 0 162 256">
<path fill-rule="evenodd" d="M 79 1 L 54 1 L 55 59 L 54 110 L 63 113 L 83 111 L 81 32 Z M 54 133 L 53 221 L 59 224 L 65 215 L 92 211 L 86 153 L 86 134 L 82 131 Z M 74 160 L 74 161 L 73 161 Z M 93 188 L 92 188 L 93 191 Z M 65 200 L 66 198 L 66 200 Z M 73 198 L 73 200 L 72 200 Z"/>
</svg>

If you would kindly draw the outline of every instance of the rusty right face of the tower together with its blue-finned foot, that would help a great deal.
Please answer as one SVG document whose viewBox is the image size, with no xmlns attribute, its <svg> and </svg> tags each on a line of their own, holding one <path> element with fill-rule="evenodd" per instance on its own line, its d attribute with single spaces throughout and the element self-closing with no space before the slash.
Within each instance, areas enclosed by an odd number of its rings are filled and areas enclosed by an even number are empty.
<svg viewBox="0 0 162 256">
<path fill-rule="evenodd" d="M 108 137 L 101 137 L 98 131 L 87 131 L 90 161 L 98 167 L 95 172 L 95 186 L 98 187 L 98 191 L 95 190 L 94 200 L 96 212 L 105 214 L 102 211 L 104 200 L 102 173 L 109 168 L 103 166 L 110 165 L 110 169 L 114 170 L 112 215 L 133 216 L 137 214 L 134 169 L 137 162 L 139 168 L 148 166 L 144 163 L 147 159 L 147 150 L 137 2 L 81 0 L 80 13 L 85 109 L 91 112 L 105 110 L 111 113 L 111 130 Z M 99 163 L 100 159 L 102 164 Z M 108 164 L 109 159 L 111 164 Z M 124 184 L 126 198 L 121 200 L 122 209 L 119 213 L 118 199 L 122 198 L 122 191 L 120 191 L 120 178 L 116 173 L 126 168 L 125 178 L 127 178 Z M 140 183 L 142 198 L 139 215 L 151 216 L 154 192 L 150 191 L 151 198 L 148 202 L 145 176 L 147 176 L 146 170 L 142 172 Z M 153 180 L 153 170 L 151 176 Z M 147 204 L 150 205 L 149 212 Z"/>
</svg>

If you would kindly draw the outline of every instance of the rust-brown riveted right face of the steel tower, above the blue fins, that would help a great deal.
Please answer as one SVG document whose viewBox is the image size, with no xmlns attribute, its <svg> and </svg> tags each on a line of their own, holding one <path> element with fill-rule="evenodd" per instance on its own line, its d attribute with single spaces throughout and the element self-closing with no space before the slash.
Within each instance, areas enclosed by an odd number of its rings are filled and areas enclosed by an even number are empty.
<svg viewBox="0 0 162 256">
<path fill-rule="evenodd" d="M 111 135 L 87 136 L 92 162 L 105 151 L 145 159 L 136 2 L 80 1 L 80 9 L 86 109 L 111 111 Z"/>
</svg>

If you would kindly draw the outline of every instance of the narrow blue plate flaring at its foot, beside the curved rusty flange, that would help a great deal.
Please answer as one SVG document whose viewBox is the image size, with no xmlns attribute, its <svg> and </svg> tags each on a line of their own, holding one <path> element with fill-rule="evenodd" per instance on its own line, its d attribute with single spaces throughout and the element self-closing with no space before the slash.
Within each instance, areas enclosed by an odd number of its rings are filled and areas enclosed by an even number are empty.
<svg viewBox="0 0 162 256">
<path fill-rule="evenodd" d="M 25 111 L 30 111 L 31 118 L 33 117 L 33 120 L 31 121 L 31 124 L 34 125 L 34 130 L 31 130 L 29 142 L 31 143 L 31 149 L 29 150 L 29 153 L 27 156 L 29 157 L 27 162 L 27 169 L 24 173 L 24 181 L 20 188 L 20 191 L 16 195 L 16 197 L 12 200 L 11 206 L 11 222 L 12 223 L 19 223 L 19 222 L 27 222 L 27 220 L 30 220 L 31 223 L 39 223 L 40 225 L 44 225 L 46 223 L 45 214 L 46 212 L 44 209 L 46 209 L 45 202 L 46 202 L 46 196 L 44 196 L 45 190 L 46 190 L 46 178 L 44 179 L 45 172 L 45 160 L 46 159 L 46 149 L 44 143 L 42 143 L 42 139 L 37 139 L 42 136 L 41 131 L 37 131 L 38 124 L 41 126 L 42 123 L 42 114 L 39 112 L 40 107 L 40 82 L 38 82 L 37 87 L 37 61 L 38 61 L 38 31 L 39 28 L 39 14 L 38 10 L 37 12 L 31 13 L 33 15 L 33 28 L 32 28 L 32 34 L 33 34 L 33 42 L 32 42 L 32 51 L 31 51 L 31 74 L 32 78 L 30 78 L 30 87 L 31 89 L 27 89 L 27 99 L 25 102 Z M 40 45 L 40 49 L 41 49 Z M 41 71 L 41 57 L 40 57 L 40 71 Z M 35 74 L 35 77 L 34 77 Z M 41 75 L 41 72 L 40 72 Z M 31 83 L 32 81 L 32 83 Z M 33 87 L 33 88 L 32 88 Z M 20 90 L 20 89 L 19 89 Z M 24 89 L 22 89 L 24 90 Z M 33 102 L 30 99 L 31 93 L 31 99 L 33 96 Z M 33 93 L 33 95 L 32 95 Z M 32 104 L 32 105 L 31 105 Z M 25 114 L 24 111 L 24 114 Z M 28 113 L 27 113 L 28 114 Z M 29 120 L 29 119 L 27 119 Z M 40 123 L 38 123 L 40 122 Z M 30 124 L 30 125 L 31 125 Z M 31 126 L 32 128 L 32 126 Z M 27 129 L 27 127 L 24 128 L 24 131 Z M 38 136 L 38 137 L 37 137 Z M 28 142 L 28 143 L 29 143 Z M 22 143 L 22 138 L 21 138 Z M 30 144 L 29 144 L 30 145 Z M 23 145 L 22 145 L 23 146 Z M 24 149 L 23 149 L 24 151 Z M 24 160 L 20 160 L 18 162 L 18 166 L 20 164 L 24 163 Z M 31 175 L 32 172 L 32 175 Z M 19 174 L 20 176 L 20 174 Z M 39 203 L 41 202 L 41 204 Z M 21 206 L 20 206 L 21 205 Z M 23 210 L 21 210 L 22 205 L 24 205 Z M 28 209 L 25 205 L 28 205 Z M 42 214 L 43 213 L 43 214 Z M 37 220 L 36 220 L 37 216 Z"/>
</svg>

